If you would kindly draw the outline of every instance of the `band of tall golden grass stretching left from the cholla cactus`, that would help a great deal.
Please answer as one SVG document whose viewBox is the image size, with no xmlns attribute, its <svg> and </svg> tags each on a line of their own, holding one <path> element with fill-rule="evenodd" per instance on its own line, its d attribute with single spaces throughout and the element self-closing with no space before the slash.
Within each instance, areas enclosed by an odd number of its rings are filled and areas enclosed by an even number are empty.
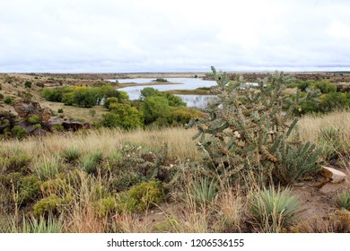
<svg viewBox="0 0 350 251">
<path fill-rule="evenodd" d="M 150 151 L 160 151 L 166 143 L 170 158 L 197 160 L 200 158 L 200 153 L 192 141 L 194 134 L 196 134 L 195 129 L 186 130 L 184 128 L 131 132 L 101 129 L 76 134 L 52 134 L 42 138 L 30 137 L 22 142 L 7 141 L 2 143 L 1 148 L 3 151 L 22 149 L 31 156 L 48 156 L 74 146 L 83 152 L 101 151 L 104 155 L 109 155 L 118 151 L 126 143 L 147 147 Z"/>
</svg>

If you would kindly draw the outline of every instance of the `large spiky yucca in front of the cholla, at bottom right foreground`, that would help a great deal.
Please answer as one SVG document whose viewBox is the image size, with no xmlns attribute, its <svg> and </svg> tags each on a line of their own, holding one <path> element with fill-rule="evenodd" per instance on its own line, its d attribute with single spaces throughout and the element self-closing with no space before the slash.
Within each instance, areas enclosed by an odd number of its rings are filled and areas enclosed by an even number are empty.
<svg viewBox="0 0 350 251">
<path fill-rule="evenodd" d="M 250 213 L 262 231 L 281 232 L 295 220 L 293 216 L 299 208 L 297 200 L 289 188 L 264 187 L 251 195 Z"/>
</svg>

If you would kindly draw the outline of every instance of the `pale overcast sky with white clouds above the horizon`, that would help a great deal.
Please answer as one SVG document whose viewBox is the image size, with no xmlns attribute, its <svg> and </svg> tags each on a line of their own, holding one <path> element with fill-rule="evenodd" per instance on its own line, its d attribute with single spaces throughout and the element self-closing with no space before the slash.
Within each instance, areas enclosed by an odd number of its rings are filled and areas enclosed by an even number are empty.
<svg viewBox="0 0 350 251">
<path fill-rule="evenodd" d="M 0 0 L 0 72 L 350 70 L 350 1 Z"/>
</svg>

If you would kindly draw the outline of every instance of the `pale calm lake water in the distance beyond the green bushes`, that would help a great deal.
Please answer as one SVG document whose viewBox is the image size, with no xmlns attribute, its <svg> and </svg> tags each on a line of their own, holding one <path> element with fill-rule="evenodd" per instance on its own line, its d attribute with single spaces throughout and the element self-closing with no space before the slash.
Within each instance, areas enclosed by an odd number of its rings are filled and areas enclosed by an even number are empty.
<svg viewBox="0 0 350 251">
<path fill-rule="evenodd" d="M 119 83 L 152 83 L 154 79 L 150 78 L 138 78 L 138 79 L 121 79 Z M 130 100 L 137 100 L 140 98 L 141 91 L 145 87 L 152 87 L 158 91 L 171 91 L 171 90 L 195 90 L 199 87 L 211 87 L 216 85 L 214 81 L 206 81 L 199 78 L 167 78 L 169 82 L 176 84 L 161 84 L 161 85 L 143 85 L 143 86 L 127 86 L 118 88 L 120 91 L 127 91 Z M 109 80 L 115 82 L 115 80 Z M 184 100 L 188 107 L 206 108 L 208 101 L 215 99 L 213 95 L 177 95 Z"/>
</svg>

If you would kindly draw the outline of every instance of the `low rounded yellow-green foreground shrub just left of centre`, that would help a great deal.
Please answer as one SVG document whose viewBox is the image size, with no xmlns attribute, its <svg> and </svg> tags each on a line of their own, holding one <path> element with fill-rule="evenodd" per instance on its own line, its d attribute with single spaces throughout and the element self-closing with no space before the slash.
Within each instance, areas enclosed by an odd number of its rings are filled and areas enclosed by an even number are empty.
<svg viewBox="0 0 350 251">
<path fill-rule="evenodd" d="M 142 182 L 132 186 L 118 198 L 118 211 L 144 212 L 153 204 L 161 203 L 165 198 L 162 183 L 156 180 Z"/>
</svg>

